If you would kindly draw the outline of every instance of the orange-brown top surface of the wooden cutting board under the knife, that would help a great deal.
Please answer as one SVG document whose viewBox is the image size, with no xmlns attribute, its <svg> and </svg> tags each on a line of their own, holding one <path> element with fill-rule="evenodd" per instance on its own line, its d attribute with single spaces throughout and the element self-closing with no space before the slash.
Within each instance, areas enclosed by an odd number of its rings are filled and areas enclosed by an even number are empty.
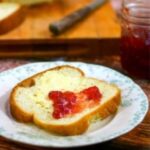
<svg viewBox="0 0 150 150">
<path fill-rule="evenodd" d="M 84 7 L 92 0 L 55 0 L 51 4 L 30 6 L 24 22 L 13 31 L 0 36 L 0 43 L 30 43 L 45 41 L 100 39 L 120 37 L 120 25 L 110 3 L 59 36 L 52 36 L 49 24 Z"/>
</svg>

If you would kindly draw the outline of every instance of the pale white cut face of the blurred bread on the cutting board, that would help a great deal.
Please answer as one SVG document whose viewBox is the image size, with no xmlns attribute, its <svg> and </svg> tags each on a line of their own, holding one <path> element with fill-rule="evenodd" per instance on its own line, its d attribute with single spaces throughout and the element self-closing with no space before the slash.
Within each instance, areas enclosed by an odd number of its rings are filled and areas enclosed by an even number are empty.
<svg viewBox="0 0 150 150">
<path fill-rule="evenodd" d="M 15 13 L 19 8 L 19 4 L 0 3 L 0 21 Z"/>
</svg>

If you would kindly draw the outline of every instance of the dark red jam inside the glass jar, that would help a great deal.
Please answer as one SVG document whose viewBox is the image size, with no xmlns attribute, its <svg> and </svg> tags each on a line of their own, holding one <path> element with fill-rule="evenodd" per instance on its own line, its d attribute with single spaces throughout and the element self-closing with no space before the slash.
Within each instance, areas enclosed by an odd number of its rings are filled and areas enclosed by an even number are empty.
<svg viewBox="0 0 150 150">
<path fill-rule="evenodd" d="M 122 66 L 131 75 L 150 79 L 150 31 L 127 30 L 121 38 Z"/>
</svg>

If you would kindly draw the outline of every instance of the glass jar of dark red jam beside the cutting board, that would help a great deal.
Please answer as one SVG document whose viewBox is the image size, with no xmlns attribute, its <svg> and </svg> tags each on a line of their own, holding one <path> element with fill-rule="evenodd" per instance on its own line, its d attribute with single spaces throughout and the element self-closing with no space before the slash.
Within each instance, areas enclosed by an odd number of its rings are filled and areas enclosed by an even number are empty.
<svg viewBox="0 0 150 150">
<path fill-rule="evenodd" d="M 131 75 L 150 80 L 150 0 L 124 0 L 121 63 Z"/>
</svg>

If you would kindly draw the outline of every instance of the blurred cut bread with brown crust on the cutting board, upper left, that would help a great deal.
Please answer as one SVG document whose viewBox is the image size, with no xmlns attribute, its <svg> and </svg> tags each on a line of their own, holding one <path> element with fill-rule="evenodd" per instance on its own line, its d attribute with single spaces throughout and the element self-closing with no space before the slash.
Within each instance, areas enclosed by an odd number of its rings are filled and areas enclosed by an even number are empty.
<svg viewBox="0 0 150 150">
<path fill-rule="evenodd" d="M 25 7 L 17 3 L 0 3 L 0 34 L 16 28 L 24 18 Z"/>
</svg>

